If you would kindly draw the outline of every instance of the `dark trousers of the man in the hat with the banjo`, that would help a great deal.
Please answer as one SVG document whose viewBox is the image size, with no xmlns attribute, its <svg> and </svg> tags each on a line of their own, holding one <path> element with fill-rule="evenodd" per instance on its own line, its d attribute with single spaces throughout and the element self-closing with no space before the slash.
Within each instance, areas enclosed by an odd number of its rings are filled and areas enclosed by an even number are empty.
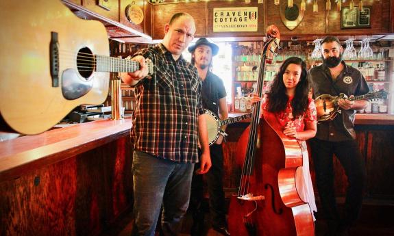
<svg viewBox="0 0 394 236">
<path fill-rule="evenodd" d="M 221 145 L 213 144 L 210 146 L 210 158 L 212 167 L 205 174 L 204 178 L 208 185 L 210 215 L 212 226 L 227 226 L 225 220 L 225 197 L 223 192 L 223 150 Z M 196 163 L 195 170 L 199 168 Z M 193 215 L 194 224 L 204 221 L 204 209 L 202 201 L 204 199 L 204 181 L 202 174 L 193 174 L 192 187 L 190 192 L 189 210 Z"/>
</svg>

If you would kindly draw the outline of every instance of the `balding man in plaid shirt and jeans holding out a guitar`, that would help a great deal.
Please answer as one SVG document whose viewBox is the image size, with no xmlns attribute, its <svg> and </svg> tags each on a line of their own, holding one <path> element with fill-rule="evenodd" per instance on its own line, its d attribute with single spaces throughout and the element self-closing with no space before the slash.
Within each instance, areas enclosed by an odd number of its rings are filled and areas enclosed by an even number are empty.
<svg viewBox="0 0 394 236">
<path fill-rule="evenodd" d="M 132 58 L 139 62 L 140 70 L 122 76 L 136 93 L 131 133 L 132 235 L 154 235 L 161 207 L 164 235 L 177 235 L 188 208 L 194 163 L 201 161 L 197 170 L 200 174 L 211 166 L 206 122 L 201 116 L 201 79 L 181 54 L 193 40 L 195 30 L 192 16 L 174 14 L 164 26 L 162 43 L 138 51 Z M 145 58 L 153 62 L 153 75 L 148 75 Z"/>
</svg>

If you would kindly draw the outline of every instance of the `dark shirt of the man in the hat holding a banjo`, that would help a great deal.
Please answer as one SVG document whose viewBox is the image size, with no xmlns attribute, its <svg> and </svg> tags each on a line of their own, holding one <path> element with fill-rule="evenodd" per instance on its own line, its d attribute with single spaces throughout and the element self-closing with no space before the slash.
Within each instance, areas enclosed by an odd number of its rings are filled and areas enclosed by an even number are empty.
<svg viewBox="0 0 394 236">
<path fill-rule="evenodd" d="M 201 88 L 203 107 L 210 109 L 219 117 L 219 99 L 223 99 L 226 95 L 223 81 L 217 75 L 208 71 Z"/>
</svg>

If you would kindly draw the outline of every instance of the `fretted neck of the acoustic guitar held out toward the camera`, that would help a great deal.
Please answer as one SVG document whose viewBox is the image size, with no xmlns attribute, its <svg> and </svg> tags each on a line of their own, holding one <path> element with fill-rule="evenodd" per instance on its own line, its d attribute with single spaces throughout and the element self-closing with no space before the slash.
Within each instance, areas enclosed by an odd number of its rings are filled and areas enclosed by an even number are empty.
<svg viewBox="0 0 394 236">
<path fill-rule="evenodd" d="M 134 72 L 140 69 L 140 64 L 132 60 L 125 60 L 116 57 L 95 55 L 96 71 L 99 72 Z M 153 71 L 151 62 L 147 62 L 149 74 Z"/>
</svg>

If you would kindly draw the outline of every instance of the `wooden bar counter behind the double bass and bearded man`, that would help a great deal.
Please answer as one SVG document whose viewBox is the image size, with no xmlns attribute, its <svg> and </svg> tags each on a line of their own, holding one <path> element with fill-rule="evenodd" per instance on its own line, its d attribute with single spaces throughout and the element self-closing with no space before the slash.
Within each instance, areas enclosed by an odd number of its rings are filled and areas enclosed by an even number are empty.
<svg viewBox="0 0 394 236">
<path fill-rule="evenodd" d="M 230 114 L 239 116 L 240 114 Z M 367 167 L 366 200 L 394 204 L 394 115 L 389 114 L 356 114 L 355 130 L 360 151 Z M 228 192 L 239 185 L 241 166 L 236 160 L 237 142 L 242 132 L 249 125 L 249 120 L 230 124 L 227 127 L 227 142 L 224 152 L 224 185 Z M 336 196 L 345 196 L 347 179 L 341 164 L 334 159 Z M 310 173 L 315 186 L 315 170 L 310 158 Z M 315 189 L 317 192 L 317 189 Z M 316 194 L 316 196 L 318 196 Z M 386 203 L 384 203 L 386 204 Z"/>
</svg>

